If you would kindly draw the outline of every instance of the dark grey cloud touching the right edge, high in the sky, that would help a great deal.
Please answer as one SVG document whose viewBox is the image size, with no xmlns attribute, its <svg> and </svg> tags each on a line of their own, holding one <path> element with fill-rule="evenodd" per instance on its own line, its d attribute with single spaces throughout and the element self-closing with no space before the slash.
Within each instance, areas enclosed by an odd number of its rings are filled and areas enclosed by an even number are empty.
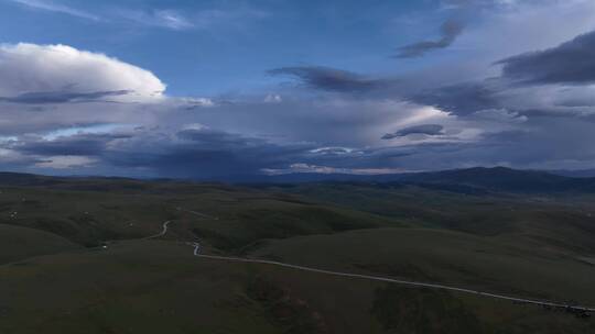
<svg viewBox="0 0 595 334">
<path fill-rule="evenodd" d="M 502 77 L 524 84 L 595 82 L 595 31 L 545 51 L 497 62 Z"/>
</svg>

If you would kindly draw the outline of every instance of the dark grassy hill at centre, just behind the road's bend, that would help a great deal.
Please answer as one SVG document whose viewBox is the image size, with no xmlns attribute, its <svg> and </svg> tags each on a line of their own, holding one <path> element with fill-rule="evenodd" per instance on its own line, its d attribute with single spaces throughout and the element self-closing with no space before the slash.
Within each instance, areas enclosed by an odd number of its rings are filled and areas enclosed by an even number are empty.
<svg viewBox="0 0 595 334">
<path fill-rule="evenodd" d="M 176 202 L 192 211 L 209 212 L 217 220 L 182 212 L 193 236 L 221 250 L 242 252 L 255 243 L 298 235 L 332 234 L 342 231 L 403 226 L 391 218 L 321 205 L 295 199 L 267 196 L 235 196 L 232 201 L 214 202 L 208 196 Z"/>
</svg>

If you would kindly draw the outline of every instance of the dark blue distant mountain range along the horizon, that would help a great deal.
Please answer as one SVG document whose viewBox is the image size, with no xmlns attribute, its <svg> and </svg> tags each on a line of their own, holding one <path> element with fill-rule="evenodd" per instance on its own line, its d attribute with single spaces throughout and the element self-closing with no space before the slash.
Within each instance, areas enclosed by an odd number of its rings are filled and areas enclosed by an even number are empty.
<svg viewBox="0 0 595 334">
<path fill-rule="evenodd" d="M 572 176 L 572 172 L 519 170 L 506 167 L 474 167 L 431 172 L 391 174 L 391 175 L 349 175 L 349 174 L 286 174 L 277 176 L 241 176 L 224 181 L 244 185 L 282 185 L 305 182 L 357 182 L 378 186 L 416 185 L 432 189 L 456 192 L 478 193 L 486 191 L 505 192 L 595 192 L 595 177 Z M 51 177 L 19 172 L 0 172 L 0 186 L 84 186 L 86 180 L 121 180 L 122 182 L 142 182 L 126 178 L 102 177 Z M 169 179 L 155 182 L 172 181 Z M 176 180 L 180 181 L 180 180 Z"/>
</svg>

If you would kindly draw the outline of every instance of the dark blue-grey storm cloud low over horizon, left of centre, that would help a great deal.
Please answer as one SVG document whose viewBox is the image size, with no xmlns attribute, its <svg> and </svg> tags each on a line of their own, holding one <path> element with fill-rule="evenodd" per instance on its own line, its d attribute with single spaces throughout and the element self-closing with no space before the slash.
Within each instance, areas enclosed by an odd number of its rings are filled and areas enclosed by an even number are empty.
<svg viewBox="0 0 595 334">
<path fill-rule="evenodd" d="M 175 133 L 136 130 L 123 134 L 76 134 L 53 140 L 20 137 L 2 145 L 18 154 L 48 162 L 53 156 L 94 157 L 102 166 L 141 168 L 167 177 L 213 178 L 255 175 L 270 166 L 300 160 L 313 145 L 275 145 L 210 129 Z"/>
</svg>

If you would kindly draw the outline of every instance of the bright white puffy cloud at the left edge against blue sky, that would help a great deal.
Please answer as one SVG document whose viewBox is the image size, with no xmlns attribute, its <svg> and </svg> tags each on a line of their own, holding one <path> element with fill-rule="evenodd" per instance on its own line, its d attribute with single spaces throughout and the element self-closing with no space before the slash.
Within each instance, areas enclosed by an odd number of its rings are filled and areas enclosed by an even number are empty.
<svg viewBox="0 0 595 334">
<path fill-rule="evenodd" d="M 110 100 L 159 99 L 165 90 L 152 73 L 66 45 L 0 45 L 0 97 L 26 93 L 129 91 Z"/>
</svg>

